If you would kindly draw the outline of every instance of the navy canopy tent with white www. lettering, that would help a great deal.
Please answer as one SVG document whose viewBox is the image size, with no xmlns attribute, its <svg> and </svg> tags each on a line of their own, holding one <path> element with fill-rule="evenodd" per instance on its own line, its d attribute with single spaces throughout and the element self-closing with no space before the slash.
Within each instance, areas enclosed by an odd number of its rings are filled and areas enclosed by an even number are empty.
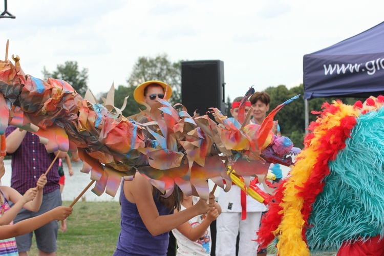
<svg viewBox="0 0 384 256">
<path fill-rule="evenodd" d="M 333 46 L 304 55 L 306 108 L 307 100 L 317 97 L 379 94 L 384 95 L 384 22 Z"/>
</svg>

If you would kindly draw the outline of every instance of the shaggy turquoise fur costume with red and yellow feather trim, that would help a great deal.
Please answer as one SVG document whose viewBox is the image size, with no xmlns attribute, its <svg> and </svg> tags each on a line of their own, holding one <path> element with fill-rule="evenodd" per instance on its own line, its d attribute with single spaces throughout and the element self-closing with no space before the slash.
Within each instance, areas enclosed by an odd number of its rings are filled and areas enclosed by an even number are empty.
<svg viewBox="0 0 384 256">
<path fill-rule="evenodd" d="M 384 97 L 324 103 L 258 231 L 279 255 L 383 255 Z"/>
</svg>

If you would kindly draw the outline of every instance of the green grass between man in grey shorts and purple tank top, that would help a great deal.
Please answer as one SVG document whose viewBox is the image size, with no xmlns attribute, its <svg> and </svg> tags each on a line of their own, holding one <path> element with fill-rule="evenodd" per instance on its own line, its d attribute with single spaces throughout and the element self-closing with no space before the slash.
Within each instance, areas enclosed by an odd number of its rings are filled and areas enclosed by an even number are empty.
<svg viewBox="0 0 384 256">
<path fill-rule="evenodd" d="M 65 233 L 59 228 L 57 255 L 112 255 L 120 231 L 119 202 L 77 202 L 67 227 Z M 34 240 L 29 255 L 38 255 Z"/>
</svg>

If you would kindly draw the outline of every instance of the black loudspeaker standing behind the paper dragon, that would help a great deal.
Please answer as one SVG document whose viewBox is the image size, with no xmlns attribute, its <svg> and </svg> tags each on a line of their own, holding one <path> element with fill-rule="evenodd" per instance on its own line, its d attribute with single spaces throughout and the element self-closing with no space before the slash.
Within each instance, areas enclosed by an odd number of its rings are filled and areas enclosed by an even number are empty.
<svg viewBox="0 0 384 256">
<path fill-rule="evenodd" d="M 225 111 L 224 62 L 194 60 L 181 62 L 181 102 L 188 114 L 205 115 L 209 108 Z"/>
</svg>

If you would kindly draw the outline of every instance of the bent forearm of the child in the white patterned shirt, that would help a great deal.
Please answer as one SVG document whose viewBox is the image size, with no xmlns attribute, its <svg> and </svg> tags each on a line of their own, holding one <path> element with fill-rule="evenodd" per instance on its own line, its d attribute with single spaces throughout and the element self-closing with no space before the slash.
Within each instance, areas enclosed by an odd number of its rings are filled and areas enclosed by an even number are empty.
<svg viewBox="0 0 384 256">
<path fill-rule="evenodd" d="M 206 217 L 199 225 L 191 227 L 187 221 L 184 224 L 178 226 L 177 230 L 179 230 L 180 233 L 182 233 L 183 236 L 190 241 L 196 241 L 203 236 L 209 225 L 212 223 L 212 221 L 216 220 L 217 217 L 219 217 L 219 210 L 215 207 L 212 207 L 212 209 L 207 212 Z"/>
</svg>

